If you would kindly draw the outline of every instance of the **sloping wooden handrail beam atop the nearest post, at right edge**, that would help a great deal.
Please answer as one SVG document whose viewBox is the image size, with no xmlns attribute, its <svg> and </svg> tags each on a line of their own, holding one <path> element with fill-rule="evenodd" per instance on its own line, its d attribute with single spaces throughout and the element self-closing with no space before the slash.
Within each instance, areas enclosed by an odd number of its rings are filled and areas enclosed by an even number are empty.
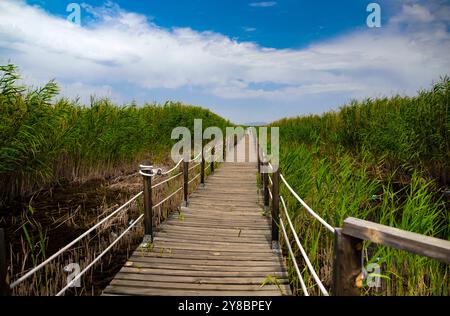
<svg viewBox="0 0 450 316">
<path fill-rule="evenodd" d="M 349 217 L 343 234 L 406 250 L 450 264 L 450 241 Z"/>
</svg>

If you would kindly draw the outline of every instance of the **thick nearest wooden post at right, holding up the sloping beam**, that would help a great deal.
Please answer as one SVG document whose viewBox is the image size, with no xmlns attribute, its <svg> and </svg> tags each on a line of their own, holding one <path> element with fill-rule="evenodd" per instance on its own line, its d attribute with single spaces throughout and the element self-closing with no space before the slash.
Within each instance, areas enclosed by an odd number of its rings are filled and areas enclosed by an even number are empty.
<svg viewBox="0 0 450 316">
<path fill-rule="evenodd" d="M 361 290 L 356 281 L 362 272 L 361 255 L 363 241 L 342 233 L 335 228 L 333 256 L 333 295 L 359 296 Z"/>
</svg>

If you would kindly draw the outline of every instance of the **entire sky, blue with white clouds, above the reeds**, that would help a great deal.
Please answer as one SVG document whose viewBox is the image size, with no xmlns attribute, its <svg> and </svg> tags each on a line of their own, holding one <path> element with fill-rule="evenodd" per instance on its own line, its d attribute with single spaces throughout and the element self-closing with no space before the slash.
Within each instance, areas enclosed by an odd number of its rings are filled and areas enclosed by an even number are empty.
<svg viewBox="0 0 450 316">
<path fill-rule="evenodd" d="M 448 0 L 0 0 L 0 64 L 118 103 L 183 101 L 234 122 L 413 95 L 450 74 Z"/>
</svg>

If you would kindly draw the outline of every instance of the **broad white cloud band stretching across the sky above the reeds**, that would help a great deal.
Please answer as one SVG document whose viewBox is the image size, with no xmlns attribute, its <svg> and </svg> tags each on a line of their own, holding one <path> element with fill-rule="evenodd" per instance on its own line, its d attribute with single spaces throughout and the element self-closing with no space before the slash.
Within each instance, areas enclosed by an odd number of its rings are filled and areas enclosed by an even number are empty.
<svg viewBox="0 0 450 316">
<path fill-rule="evenodd" d="M 381 29 L 362 29 L 303 49 L 265 48 L 189 28 L 163 29 L 114 3 L 83 7 L 97 19 L 78 27 L 39 7 L 1 0 L 0 61 L 11 59 L 36 80 L 56 78 L 68 85 L 70 95 L 78 89 L 131 100 L 134 96 L 123 96 L 123 89 L 114 91 L 126 84 L 143 91 L 195 89 L 225 101 L 274 105 L 308 96 L 317 104 L 317 95 L 328 100 L 336 93 L 349 98 L 413 94 L 450 72 L 445 11 L 431 13 L 418 4 L 404 5 Z M 274 87 L 255 88 L 259 83 Z"/>
</svg>

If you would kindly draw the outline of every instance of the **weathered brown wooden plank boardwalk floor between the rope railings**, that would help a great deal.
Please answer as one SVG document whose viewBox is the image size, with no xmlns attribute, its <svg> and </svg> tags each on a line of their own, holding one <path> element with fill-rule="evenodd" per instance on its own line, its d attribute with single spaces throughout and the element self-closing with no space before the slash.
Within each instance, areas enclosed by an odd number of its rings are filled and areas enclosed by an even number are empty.
<svg viewBox="0 0 450 316">
<path fill-rule="evenodd" d="M 225 163 L 181 214 L 160 225 L 151 247 L 132 254 L 103 294 L 291 295 L 283 258 L 271 249 L 256 178 L 256 163 Z"/>
</svg>

